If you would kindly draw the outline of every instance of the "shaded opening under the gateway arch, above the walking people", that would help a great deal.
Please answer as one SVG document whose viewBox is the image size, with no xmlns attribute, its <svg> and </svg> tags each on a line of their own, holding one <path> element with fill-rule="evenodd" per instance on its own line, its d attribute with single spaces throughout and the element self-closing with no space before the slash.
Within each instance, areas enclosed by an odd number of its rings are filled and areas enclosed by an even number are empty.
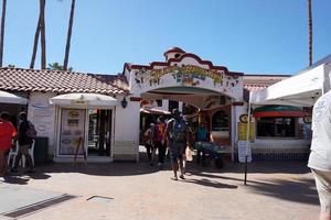
<svg viewBox="0 0 331 220">
<path fill-rule="evenodd" d="M 168 118 L 173 108 L 179 108 L 193 129 L 200 122 L 206 123 L 210 140 L 226 145 L 231 151 L 232 97 L 199 87 L 166 87 L 146 91 L 141 94 L 141 98 L 142 112 L 145 109 L 159 110 L 151 112 L 149 117 L 141 117 L 142 131 L 159 114 Z"/>
</svg>

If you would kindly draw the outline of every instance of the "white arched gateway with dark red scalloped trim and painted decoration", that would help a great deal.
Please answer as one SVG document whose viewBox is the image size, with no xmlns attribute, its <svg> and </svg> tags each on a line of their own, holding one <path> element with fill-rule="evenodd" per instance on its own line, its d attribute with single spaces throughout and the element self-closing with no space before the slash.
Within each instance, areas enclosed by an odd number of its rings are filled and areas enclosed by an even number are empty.
<svg viewBox="0 0 331 220">
<path fill-rule="evenodd" d="M 135 111 L 139 109 L 139 112 L 168 113 L 174 107 L 181 110 L 194 107 L 197 121 L 207 121 L 212 141 L 228 145 L 234 156 L 238 121 L 238 105 L 234 103 L 243 103 L 243 74 L 214 66 L 178 47 L 167 51 L 164 57 L 166 62 L 150 65 L 125 64 L 124 76 L 131 94 L 129 106 L 135 106 Z M 130 117 L 135 116 L 130 111 Z M 141 120 L 145 119 L 140 117 Z M 130 125 L 134 125 L 131 121 Z M 136 128 L 140 128 L 140 133 L 145 129 L 141 124 Z"/>
</svg>

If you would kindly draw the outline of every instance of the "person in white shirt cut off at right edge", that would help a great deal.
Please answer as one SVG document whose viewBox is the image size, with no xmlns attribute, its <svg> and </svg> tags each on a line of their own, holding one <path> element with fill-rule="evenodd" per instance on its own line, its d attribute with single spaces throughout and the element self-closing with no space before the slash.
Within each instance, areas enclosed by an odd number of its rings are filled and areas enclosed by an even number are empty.
<svg viewBox="0 0 331 220">
<path fill-rule="evenodd" d="M 319 195 L 320 220 L 331 220 L 331 90 L 314 103 L 311 128 L 308 166 L 314 176 Z"/>
</svg>

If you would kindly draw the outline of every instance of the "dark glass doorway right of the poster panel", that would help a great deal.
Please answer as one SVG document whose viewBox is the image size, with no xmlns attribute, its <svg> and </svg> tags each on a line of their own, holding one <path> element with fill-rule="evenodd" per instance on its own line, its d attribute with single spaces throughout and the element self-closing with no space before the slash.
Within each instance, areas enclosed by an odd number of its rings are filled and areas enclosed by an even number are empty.
<svg viewBox="0 0 331 220">
<path fill-rule="evenodd" d="M 88 110 L 87 154 L 89 156 L 110 156 L 111 117 L 111 110 Z"/>
</svg>

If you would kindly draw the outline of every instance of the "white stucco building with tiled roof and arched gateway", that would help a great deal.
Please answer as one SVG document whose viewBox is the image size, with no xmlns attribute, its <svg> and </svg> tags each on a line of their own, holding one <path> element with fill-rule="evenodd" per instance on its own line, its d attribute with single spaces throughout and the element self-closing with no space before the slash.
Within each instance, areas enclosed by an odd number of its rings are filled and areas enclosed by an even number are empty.
<svg viewBox="0 0 331 220">
<path fill-rule="evenodd" d="M 169 111 L 173 101 L 181 109 L 188 105 L 199 109 L 199 120 L 207 122 L 211 140 L 225 145 L 235 158 L 247 114 L 243 77 L 243 73 L 174 47 L 164 53 L 163 62 L 125 64 L 119 75 L 1 68 L 0 89 L 29 99 L 29 119 L 38 135 L 49 139 L 55 162 L 84 160 L 84 154 L 95 162 L 138 161 L 142 103 Z M 25 107 L 3 109 L 17 114 Z M 255 128 L 258 125 L 253 131 Z M 254 132 L 253 139 L 258 153 L 269 153 L 270 147 L 290 153 L 284 143 L 301 144 L 298 140 L 303 138 L 263 138 Z"/>
</svg>

